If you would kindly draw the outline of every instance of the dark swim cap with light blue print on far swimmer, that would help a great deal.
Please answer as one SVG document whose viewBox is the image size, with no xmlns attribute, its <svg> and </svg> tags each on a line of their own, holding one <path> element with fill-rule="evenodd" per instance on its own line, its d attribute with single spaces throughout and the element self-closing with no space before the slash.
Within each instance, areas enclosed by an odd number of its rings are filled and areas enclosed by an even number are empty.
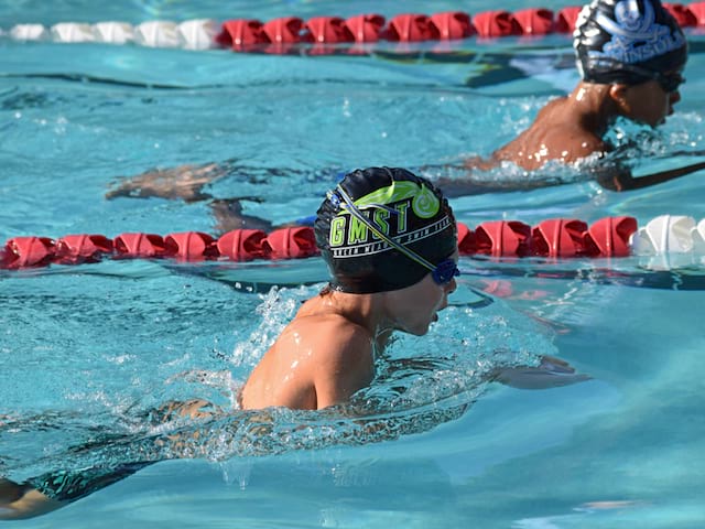
<svg viewBox="0 0 705 529">
<path fill-rule="evenodd" d="M 589 83 L 637 85 L 680 72 L 687 42 L 660 0 L 594 0 L 575 24 L 577 68 Z M 630 68 L 631 66 L 631 68 Z"/>
</svg>

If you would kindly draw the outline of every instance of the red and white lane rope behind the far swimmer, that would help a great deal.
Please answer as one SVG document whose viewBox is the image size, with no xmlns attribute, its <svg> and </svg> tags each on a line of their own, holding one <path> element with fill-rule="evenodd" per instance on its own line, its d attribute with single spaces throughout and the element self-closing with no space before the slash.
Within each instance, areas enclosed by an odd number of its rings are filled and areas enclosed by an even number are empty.
<svg viewBox="0 0 705 529">
<path fill-rule="evenodd" d="M 690 4 L 664 3 L 682 28 L 705 26 L 705 1 Z M 348 19 L 282 17 L 267 22 L 257 19 L 213 19 L 149 21 L 95 24 L 61 22 L 52 26 L 23 23 L 3 32 L 15 41 L 53 41 L 63 43 L 98 42 L 137 44 L 150 47 L 187 50 L 230 48 L 235 52 L 293 53 L 302 44 L 311 54 L 366 53 L 369 45 L 387 42 L 452 41 L 478 36 L 540 36 L 572 33 L 582 7 L 570 6 L 557 11 L 545 8 L 520 9 L 514 12 L 489 10 L 470 15 L 463 11 L 445 11 L 431 15 L 402 13 L 390 20 L 378 13 L 364 13 Z"/>
</svg>

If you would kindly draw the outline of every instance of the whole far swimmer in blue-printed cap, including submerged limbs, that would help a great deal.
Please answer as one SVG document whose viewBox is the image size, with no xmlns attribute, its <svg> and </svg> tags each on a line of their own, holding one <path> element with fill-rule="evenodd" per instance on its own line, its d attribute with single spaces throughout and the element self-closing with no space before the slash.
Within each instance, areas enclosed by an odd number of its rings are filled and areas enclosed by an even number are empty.
<svg viewBox="0 0 705 529">
<path fill-rule="evenodd" d="M 473 177 L 471 171 L 487 171 L 502 162 L 511 162 L 539 173 L 552 160 L 572 164 L 588 156 L 604 158 L 614 151 L 605 136 L 617 118 L 655 128 L 673 114 L 673 106 L 681 100 L 679 87 L 685 80 L 687 42 L 660 0 L 594 0 L 581 12 L 574 36 L 576 64 L 582 77 L 574 90 L 550 101 L 527 130 L 489 159 L 465 161 L 459 169 L 469 170 L 467 176 L 436 180 L 447 197 L 556 185 L 560 182 L 554 179 L 535 177 L 540 174 L 525 180 L 488 182 Z M 232 160 L 221 164 L 151 170 L 120 182 L 106 193 L 106 197 L 210 199 L 213 197 L 203 191 L 204 186 L 232 174 L 234 169 L 238 169 L 235 165 L 237 161 Z M 435 169 L 435 165 L 424 168 L 429 173 Z M 604 187 L 628 191 L 703 169 L 705 163 L 701 162 L 632 177 L 627 168 L 596 163 L 590 172 Z M 336 173 L 333 171 L 330 180 Z M 218 228 L 260 228 L 250 224 L 253 219 L 241 215 L 237 199 L 214 201 L 212 208 Z"/>
</svg>

